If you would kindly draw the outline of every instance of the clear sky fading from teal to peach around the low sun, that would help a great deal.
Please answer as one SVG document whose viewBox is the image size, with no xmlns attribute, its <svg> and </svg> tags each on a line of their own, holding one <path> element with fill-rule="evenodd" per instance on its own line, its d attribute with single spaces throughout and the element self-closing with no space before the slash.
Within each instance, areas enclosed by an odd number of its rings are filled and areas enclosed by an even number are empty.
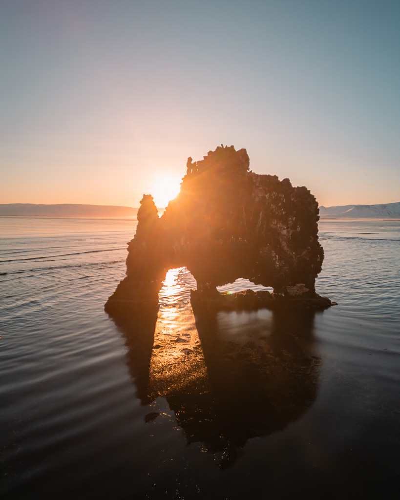
<svg viewBox="0 0 400 500">
<path fill-rule="evenodd" d="M 138 206 L 221 143 L 321 205 L 399 201 L 399 26 L 399 0 L 0 0 L 0 203 Z"/>
</svg>

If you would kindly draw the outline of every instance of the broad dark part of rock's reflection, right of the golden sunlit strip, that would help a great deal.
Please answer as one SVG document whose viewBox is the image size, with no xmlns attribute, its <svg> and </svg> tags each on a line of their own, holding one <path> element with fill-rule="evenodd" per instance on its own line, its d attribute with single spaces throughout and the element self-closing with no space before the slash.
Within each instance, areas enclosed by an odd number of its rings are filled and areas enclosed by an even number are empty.
<svg viewBox="0 0 400 500">
<path fill-rule="evenodd" d="M 300 328 L 309 331 L 310 318 L 304 319 Z M 196 325 L 208 390 L 199 400 L 167 396 L 189 441 L 213 450 L 243 446 L 250 437 L 283 429 L 315 399 L 318 359 L 304 337 L 305 345 L 298 343 L 294 321 L 274 314 L 264 331 L 238 338 L 214 318 L 197 317 Z"/>
</svg>

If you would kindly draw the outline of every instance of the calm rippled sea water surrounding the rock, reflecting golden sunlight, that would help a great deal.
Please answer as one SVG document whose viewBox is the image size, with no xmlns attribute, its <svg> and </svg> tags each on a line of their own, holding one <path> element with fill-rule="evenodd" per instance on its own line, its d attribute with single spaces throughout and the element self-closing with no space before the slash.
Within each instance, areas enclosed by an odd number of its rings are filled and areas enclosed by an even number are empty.
<svg viewBox="0 0 400 500">
<path fill-rule="evenodd" d="M 324 312 L 194 316 L 180 268 L 120 321 L 135 224 L 0 217 L 1 497 L 397 498 L 400 222 L 320 221 Z"/>
</svg>

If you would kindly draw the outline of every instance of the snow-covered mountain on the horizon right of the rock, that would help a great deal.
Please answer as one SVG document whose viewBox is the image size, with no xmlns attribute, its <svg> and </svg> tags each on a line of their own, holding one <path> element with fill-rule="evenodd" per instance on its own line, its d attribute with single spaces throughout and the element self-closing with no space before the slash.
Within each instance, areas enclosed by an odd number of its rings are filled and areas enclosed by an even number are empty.
<svg viewBox="0 0 400 500">
<path fill-rule="evenodd" d="M 399 218 L 400 201 L 384 205 L 320 206 L 320 218 Z"/>
</svg>

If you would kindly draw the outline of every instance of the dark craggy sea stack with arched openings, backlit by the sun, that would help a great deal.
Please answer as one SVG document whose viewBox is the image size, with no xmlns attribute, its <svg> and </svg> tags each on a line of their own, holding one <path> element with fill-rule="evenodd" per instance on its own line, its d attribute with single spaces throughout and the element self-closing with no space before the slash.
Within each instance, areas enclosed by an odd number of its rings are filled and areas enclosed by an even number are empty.
<svg viewBox="0 0 400 500">
<path fill-rule="evenodd" d="M 326 308 L 315 292 L 323 248 L 318 204 L 306 187 L 249 171 L 245 149 L 218 146 L 200 161 L 188 158 L 179 194 L 160 218 L 143 195 L 137 229 L 128 244 L 126 277 L 107 311 L 158 306 L 169 268 L 186 266 L 197 281 L 193 306 Z M 246 290 L 224 295 L 216 286 L 247 278 L 273 293 Z"/>
</svg>

